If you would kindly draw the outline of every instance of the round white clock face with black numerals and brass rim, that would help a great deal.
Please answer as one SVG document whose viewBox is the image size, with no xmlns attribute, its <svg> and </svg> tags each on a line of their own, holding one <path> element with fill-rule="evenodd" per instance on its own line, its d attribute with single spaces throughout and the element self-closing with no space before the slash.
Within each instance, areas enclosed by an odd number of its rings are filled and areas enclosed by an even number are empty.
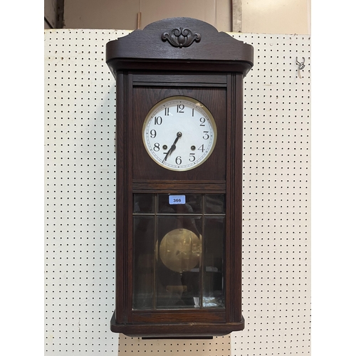
<svg viewBox="0 0 356 356">
<path fill-rule="evenodd" d="M 142 127 L 142 140 L 150 157 L 174 171 L 187 171 L 204 163 L 214 150 L 216 137 L 211 112 L 187 96 L 172 96 L 157 103 Z"/>
</svg>

